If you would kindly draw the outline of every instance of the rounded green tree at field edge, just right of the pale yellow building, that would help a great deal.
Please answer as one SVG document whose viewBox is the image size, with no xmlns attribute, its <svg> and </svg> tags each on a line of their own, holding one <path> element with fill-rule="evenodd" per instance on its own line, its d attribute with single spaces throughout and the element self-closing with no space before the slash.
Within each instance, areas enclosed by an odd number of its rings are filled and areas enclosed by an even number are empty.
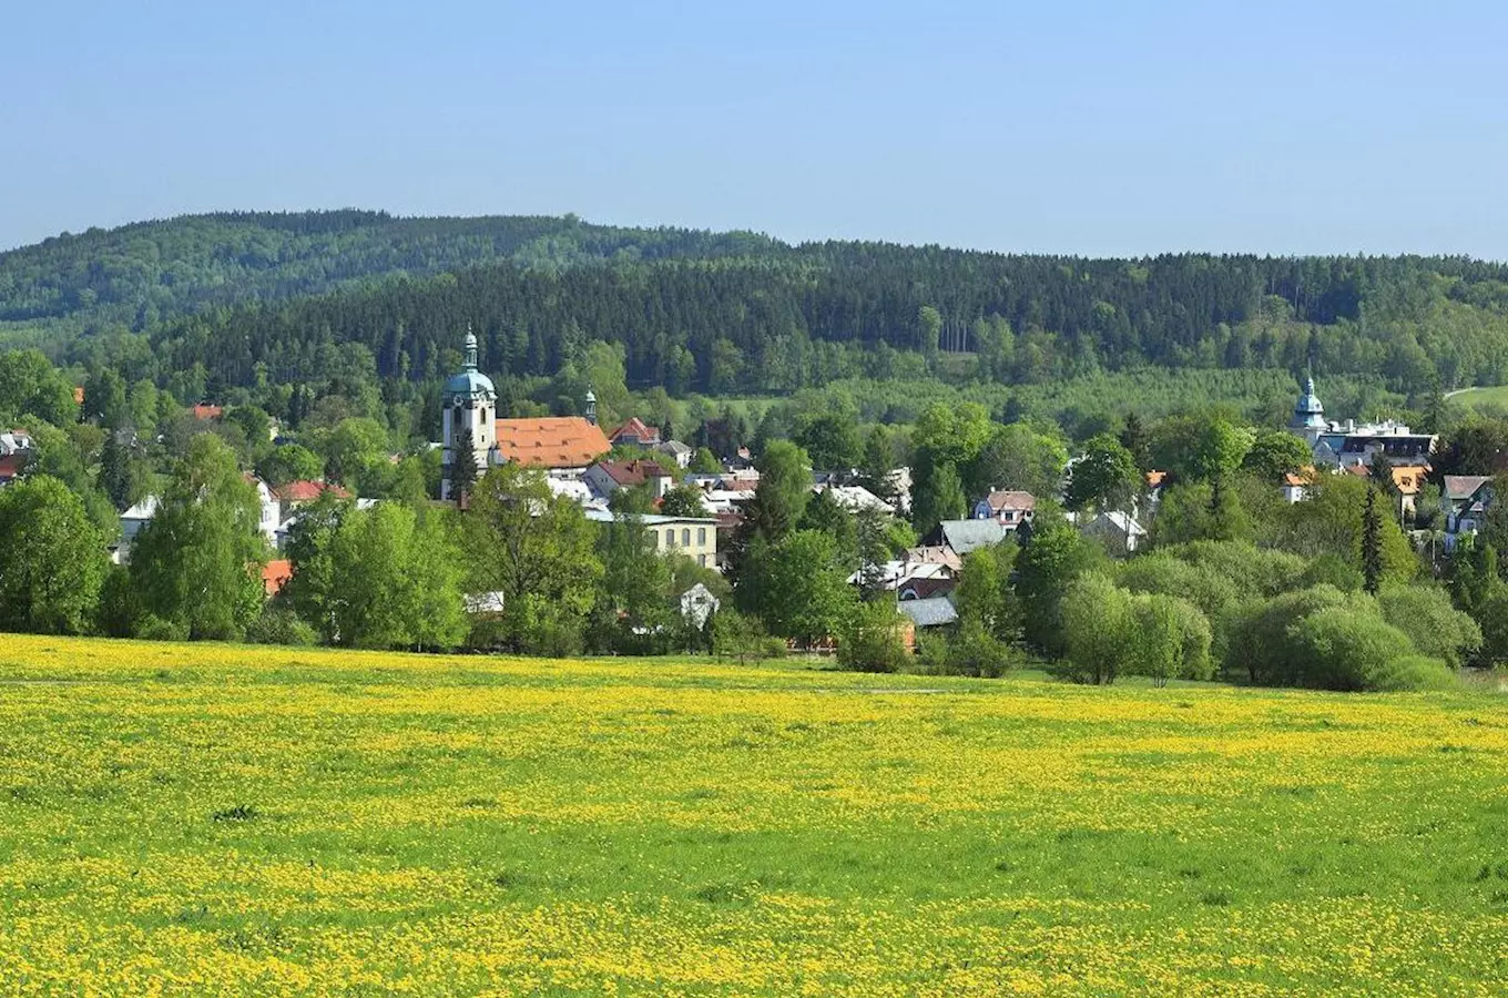
<svg viewBox="0 0 1508 998">
<path fill-rule="evenodd" d="M 817 531 L 796 531 L 760 552 L 759 615 L 771 633 L 813 645 L 841 633 L 858 606 L 837 543 Z"/>
</svg>

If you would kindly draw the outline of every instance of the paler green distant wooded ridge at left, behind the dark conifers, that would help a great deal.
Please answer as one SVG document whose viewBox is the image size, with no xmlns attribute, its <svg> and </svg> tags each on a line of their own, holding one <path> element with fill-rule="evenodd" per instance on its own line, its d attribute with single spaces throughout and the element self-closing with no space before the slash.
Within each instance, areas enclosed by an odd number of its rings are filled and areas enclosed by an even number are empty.
<svg viewBox="0 0 1508 998">
<path fill-rule="evenodd" d="M 749 234 L 626 229 L 575 217 L 395 219 L 385 211 L 223 213 L 63 234 L 0 253 L 0 321 L 72 320 L 134 332 L 211 305 L 318 294 L 363 279 L 427 276 L 508 259 L 762 252 Z"/>
</svg>

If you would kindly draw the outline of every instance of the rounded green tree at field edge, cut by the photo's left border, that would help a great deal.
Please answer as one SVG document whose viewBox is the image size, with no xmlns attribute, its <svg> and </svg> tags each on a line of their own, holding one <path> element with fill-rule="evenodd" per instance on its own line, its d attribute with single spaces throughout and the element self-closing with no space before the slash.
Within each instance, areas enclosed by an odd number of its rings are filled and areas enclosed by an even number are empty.
<svg viewBox="0 0 1508 998">
<path fill-rule="evenodd" d="M 0 630 L 86 630 L 109 558 L 78 496 L 48 475 L 0 488 Z"/>
</svg>

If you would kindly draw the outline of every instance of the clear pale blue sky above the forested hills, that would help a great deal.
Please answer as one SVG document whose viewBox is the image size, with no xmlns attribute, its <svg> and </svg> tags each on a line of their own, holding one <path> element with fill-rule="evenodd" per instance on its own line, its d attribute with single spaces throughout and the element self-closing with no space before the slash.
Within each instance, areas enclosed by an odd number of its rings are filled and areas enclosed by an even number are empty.
<svg viewBox="0 0 1508 998">
<path fill-rule="evenodd" d="M 199 211 L 1508 259 L 1508 5 L 0 3 L 0 249 Z"/>
</svg>

